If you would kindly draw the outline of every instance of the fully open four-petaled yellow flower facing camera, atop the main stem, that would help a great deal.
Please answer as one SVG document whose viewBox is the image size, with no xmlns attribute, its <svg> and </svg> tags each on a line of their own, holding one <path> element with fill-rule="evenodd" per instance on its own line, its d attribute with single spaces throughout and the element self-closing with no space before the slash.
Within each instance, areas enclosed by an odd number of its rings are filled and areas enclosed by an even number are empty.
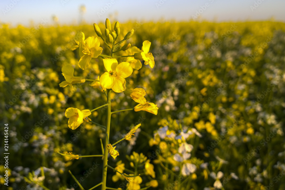
<svg viewBox="0 0 285 190">
<path fill-rule="evenodd" d="M 126 89 L 126 79 L 133 72 L 133 68 L 128 62 L 118 64 L 116 59 L 103 59 L 105 72 L 100 77 L 100 83 L 104 88 L 112 89 L 114 92 L 120 93 Z"/>
</svg>

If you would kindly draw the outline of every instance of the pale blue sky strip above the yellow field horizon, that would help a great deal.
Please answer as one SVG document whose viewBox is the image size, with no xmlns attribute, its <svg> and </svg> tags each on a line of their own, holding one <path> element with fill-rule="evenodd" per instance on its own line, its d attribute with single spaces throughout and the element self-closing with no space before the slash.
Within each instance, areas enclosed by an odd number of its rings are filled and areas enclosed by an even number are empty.
<svg viewBox="0 0 285 190">
<path fill-rule="evenodd" d="M 42 19 L 52 24 L 52 16 L 60 24 L 78 23 L 79 7 L 85 5 L 83 15 L 87 23 L 99 23 L 106 18 L 124 22 L 130 19 L 158 21 L 246 21 L 268 20 L 285 22 L 284 0 L 1 0 L 0 22 L 29 25 Z M 105 9 L 105 10 L 104 10 Z M 199 16 L 199 17 L 196 17 Z"/>
</svg>

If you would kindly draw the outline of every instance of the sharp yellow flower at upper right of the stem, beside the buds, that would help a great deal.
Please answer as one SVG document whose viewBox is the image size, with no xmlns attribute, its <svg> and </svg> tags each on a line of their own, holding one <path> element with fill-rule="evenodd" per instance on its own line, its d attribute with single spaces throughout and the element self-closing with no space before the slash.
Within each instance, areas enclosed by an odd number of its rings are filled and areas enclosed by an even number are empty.
<svg viewBox="0 0 285 190">
<path fill-rule="evenodd" d="M 149 52 L 150 48 L 150 41 L 146 40 L 143 42 L 142 52 L 141 53 L 135 53 L 135 59 L 138 60 L 144 60 L 145 65 L 149 65 L 151 68 L 154 67 L 154 57 Z"/>
</svg>

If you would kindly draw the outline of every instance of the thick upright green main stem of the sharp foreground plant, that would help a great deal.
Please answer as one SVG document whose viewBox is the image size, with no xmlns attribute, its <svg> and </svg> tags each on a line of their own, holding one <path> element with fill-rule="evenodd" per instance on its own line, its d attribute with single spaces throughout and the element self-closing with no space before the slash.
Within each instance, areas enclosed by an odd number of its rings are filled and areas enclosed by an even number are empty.
<svg viewBox="0 0 285 190">
<path fill-rule="evenodd" d="M 107 89 L 107 104 L 108 104 L 108 117 L 107 117 L 107 129 L 106 129 L 106 138 L 105 138 L 105 148 L 104 148 L 104 159 L 103 159 L 103 174 L 102 174 L 102 188 L 101 190 L 106 190 L 107 182 L 107 166 L 108 166 L 108 149 L 107 144 L 109 141 L 110 134 L 110 124 L 111 124 L 111 90 Z"/>
</svg>

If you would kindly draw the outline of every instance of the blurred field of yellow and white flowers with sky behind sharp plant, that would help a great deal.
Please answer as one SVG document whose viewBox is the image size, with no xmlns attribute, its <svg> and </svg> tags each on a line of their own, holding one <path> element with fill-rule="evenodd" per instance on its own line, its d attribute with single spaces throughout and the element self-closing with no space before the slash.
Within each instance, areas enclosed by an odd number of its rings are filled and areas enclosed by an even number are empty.
<svg viewBox="0 0 285 190">
<path fill-rule="evenodd" d="M 154 68 L 143 64 L 134 70 L 126 87 L 143 88 L 147 101 L 159 108 L 157 115 L 112 115 L 112 142 L 133 125 L 141 127 L 130 141 L 117 144 L 120 155 L 108 163 L 141 175 L 129 183 L 108 169 L 110 187 L 285 189 L 285 1 L 9 0 L 0 5 L 0 189 L 80 189 L 69 170 L 84 189 L 101 182 L 101 158 L 70 160 L 56 152 L 101 154 L 105 131 L 90 122 L 72 130 L 65 111 L 94 109 L 105 104 L 105 94 L 90 81 L 73 88 L 59 83 L 67 64 L 74 76 L 86 79 L 105 72 L 102 58 L 81 70 L 79 49 L 72 46 L 78 31 L 98 37 L 93 23 L 104 33 L 106 18 L 112 28 L 120 22 L 119 40 L 134 29 L 127 40 L 131 46 L 141 49 L 145 40 L 151 42 Z M 111 96 L 112 110 L 137 105 L 123 93 Z M 105 125 L 106 110 L 90 118 Z"/>
</svg>

